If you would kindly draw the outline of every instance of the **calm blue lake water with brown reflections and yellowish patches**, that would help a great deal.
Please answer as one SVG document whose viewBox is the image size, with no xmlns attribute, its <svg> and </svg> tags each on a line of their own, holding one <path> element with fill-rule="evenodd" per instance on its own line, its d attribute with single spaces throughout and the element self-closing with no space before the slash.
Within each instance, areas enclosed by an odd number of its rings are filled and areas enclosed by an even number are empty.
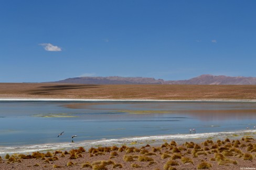
<svg viewBox="0 0 256 170">
<path fill-rule="evenodd" d="M 256 103 L 0 102 L 0 145 L 253 129 Z M 58 134 L 64 135 L 57 138 Z"/>
</svg>

